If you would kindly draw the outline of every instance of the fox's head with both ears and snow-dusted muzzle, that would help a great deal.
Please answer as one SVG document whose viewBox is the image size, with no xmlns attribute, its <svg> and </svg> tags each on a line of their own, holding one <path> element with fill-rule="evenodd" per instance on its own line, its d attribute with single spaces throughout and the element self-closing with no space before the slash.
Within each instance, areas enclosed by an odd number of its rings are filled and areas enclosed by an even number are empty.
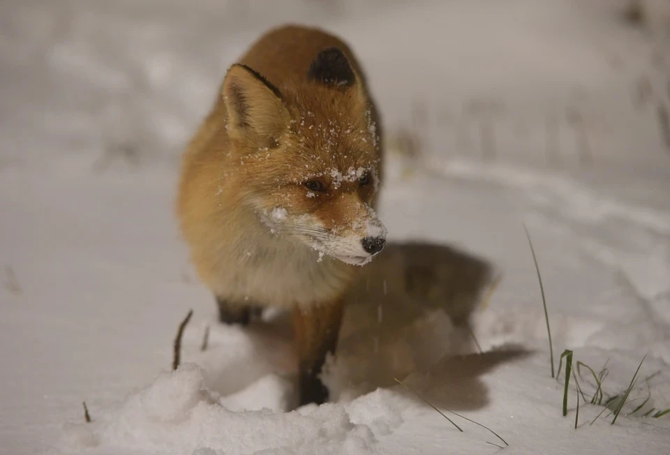
<svg viewBox="0 0 670 455">
<path fill-rule="evenodd" d="M 335 47 L 319 52 L 299 81 L 281 87 L 236 64 L 223 102 L 239 200 L 278 236 L 348 264 L 385 244 L 373 210 L 380 139 L 364 82 Z M 223 152 L 228 153 L 228 151 Z"/>
</svg>

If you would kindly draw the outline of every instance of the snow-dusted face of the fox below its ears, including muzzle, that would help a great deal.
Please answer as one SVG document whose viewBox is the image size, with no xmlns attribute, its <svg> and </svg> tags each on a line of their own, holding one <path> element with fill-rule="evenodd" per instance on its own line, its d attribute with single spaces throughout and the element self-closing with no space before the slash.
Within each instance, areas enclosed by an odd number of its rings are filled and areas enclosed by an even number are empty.
<svg viewBox="0 0 670 455">
<path fill-rule="evenodd" d="M 358 124 L 324 124 L 309 114 L 298 119 L 278 147 L 252 165 L 256 207 L 274 234 L 348 264 L 366 264 L 382 251 L 387 234 L 372 209 L 379 185 L 375 128 L 365 116 Z"/>
</svg>

